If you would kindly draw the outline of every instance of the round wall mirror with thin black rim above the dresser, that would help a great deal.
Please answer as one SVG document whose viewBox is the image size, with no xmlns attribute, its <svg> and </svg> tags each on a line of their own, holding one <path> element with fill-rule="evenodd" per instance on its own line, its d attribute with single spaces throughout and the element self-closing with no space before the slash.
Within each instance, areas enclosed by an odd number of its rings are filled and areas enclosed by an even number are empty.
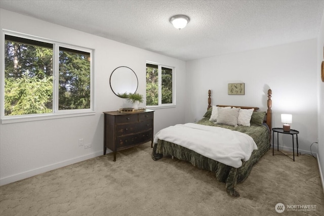
<svg viewBox="0 0 324 216">
<path fill-rule="evenodd" d="M 138 87 L 136 73 L 129 67 L 120 66 L 114 69 L 110 75 L 110 88 L 120 98 L 128 98 L 134 94 Z"/>
</svg>

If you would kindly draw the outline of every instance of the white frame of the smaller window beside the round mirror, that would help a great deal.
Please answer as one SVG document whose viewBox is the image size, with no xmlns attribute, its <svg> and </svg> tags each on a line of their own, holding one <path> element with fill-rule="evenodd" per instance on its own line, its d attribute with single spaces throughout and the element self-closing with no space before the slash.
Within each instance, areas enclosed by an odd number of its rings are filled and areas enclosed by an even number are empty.
<svg viewBox="0 0 324 216">
<path fill-rule="evenodd" d="M 176 107 L 176 68 L 173 66 L 159 64 L 151 61 L 146 61 L 146 64 L 154 64 L 157 65 L 158 68 L 157 69 L 158 70 L 158 105 L 146 106 L 146 107 L 151 109 Z M 146 68 L 146 64 L 145 64 L 145 68 Z M 172 69 L 172 103 L 171 104 L 162 104 L 162 67 Z M 146 81 L 145 81 L 145 87 L 146 87 Z"/>
</svg>

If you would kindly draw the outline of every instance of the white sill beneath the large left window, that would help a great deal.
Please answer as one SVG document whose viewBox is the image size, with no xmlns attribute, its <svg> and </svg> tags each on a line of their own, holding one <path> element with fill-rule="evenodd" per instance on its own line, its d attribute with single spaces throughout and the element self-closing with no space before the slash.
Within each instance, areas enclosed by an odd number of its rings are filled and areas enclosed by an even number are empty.
<svg viewBox="0 0 324 216">
<path fill-rule="evenodd" d="M 18 122 L 26 122 L 26 121 L 40 121 L 40 120 L 48 120 L 48 119 L 57 119 L 57 118 L 70 118 L 77 116 L 86 116 L 86 115 L 95 115 L 95 111 L 85 111 L 85 112 L 69 112 L 69 113 L 46 113 L 46 114 L 35 114 L 28 116 L 6 116 L 1 119 L 2 124 L 9 123 L 18 123 Z"/>
</svg>

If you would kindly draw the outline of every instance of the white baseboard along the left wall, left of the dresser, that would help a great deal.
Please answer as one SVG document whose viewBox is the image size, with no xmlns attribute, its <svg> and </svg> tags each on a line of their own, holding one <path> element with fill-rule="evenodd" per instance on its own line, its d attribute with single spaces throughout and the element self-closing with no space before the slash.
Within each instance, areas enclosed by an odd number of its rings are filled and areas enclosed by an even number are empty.
<svg viewBox="0 0 324 216">
<path fill-rule="evenodd" d="M 65 161 L 62 161 L 62 162 L 58 162 L 58 163 L 55 163 L 55 164 L 51 164 L 51 165 L 48 165 L 48 166 L 43 166 L 43 167 L 39 167 L 39 168 L 32 169 L 32 170 L 29 170 L 29 171 L 21 172 L 20 174 L 0 179 L 0 186 L 7 185 L 7 184 L 13 183 L 13 182 L 17 182 L 19 180 L 26 179 L 26 178 L 29 178 L 29 177 L 32 177 L 32 176 L 36 176 L 38 174 L 42 174 L 44 172 L 51 171 L 51 170 L 54 170 L 54 169 L 57 169 L 57 168 L 61 168 L 61 167 L 67 166 L 67 165 L 71 165 L 73 163 L 77 163 L 77 162 L 80 162 L 80 161 L 88 160 L 90 158 L 98 157 L 98 156 L 100 156 L 102 154 L 103 154 L 102 151 L 98 151 L 98 152 L 94 152 L 94 153 L 84 155 L 84 156 L 81 156 L 81 157 L 76 157 L 76 158 L 72 158 L 72 159 L 65 160 Z"/>
</svg>

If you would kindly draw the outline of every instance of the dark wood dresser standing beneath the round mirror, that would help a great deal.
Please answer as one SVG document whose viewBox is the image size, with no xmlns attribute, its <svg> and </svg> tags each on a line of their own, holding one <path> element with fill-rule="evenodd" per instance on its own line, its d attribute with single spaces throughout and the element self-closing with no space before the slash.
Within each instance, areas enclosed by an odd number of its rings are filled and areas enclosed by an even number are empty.
<svg viewBox="0 0 324 216">
<path fill-rule="evenodd" d="M 119 111 L 104 113 L 104 146 L 113 152 L 113 161 L 116 161 L 116 152 L 131 148 L 148 141 L 153 145 L 154 110 L 146 109 L 143 112 L 121 113 Z"/>
</svg>

